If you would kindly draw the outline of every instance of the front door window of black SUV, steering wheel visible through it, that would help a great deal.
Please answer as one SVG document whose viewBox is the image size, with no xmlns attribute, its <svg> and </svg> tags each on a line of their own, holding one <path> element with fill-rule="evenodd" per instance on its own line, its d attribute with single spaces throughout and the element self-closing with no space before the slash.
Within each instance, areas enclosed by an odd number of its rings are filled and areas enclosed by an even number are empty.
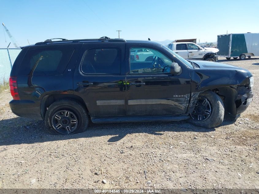
<svg viewBox="0 0 259 194">
<path fill-rule="evenodd" d="M 143 54 L 132 53 L 130 56 L 130 73 L 142 74 L 142 73 L 170 73 L 170 66 L 172 60 L 169 59 L 162 52 L 150 48 L 137 48 L 142 49 Z M 136 47 L 131 48 L 136 50 Z"/>
</svg>

